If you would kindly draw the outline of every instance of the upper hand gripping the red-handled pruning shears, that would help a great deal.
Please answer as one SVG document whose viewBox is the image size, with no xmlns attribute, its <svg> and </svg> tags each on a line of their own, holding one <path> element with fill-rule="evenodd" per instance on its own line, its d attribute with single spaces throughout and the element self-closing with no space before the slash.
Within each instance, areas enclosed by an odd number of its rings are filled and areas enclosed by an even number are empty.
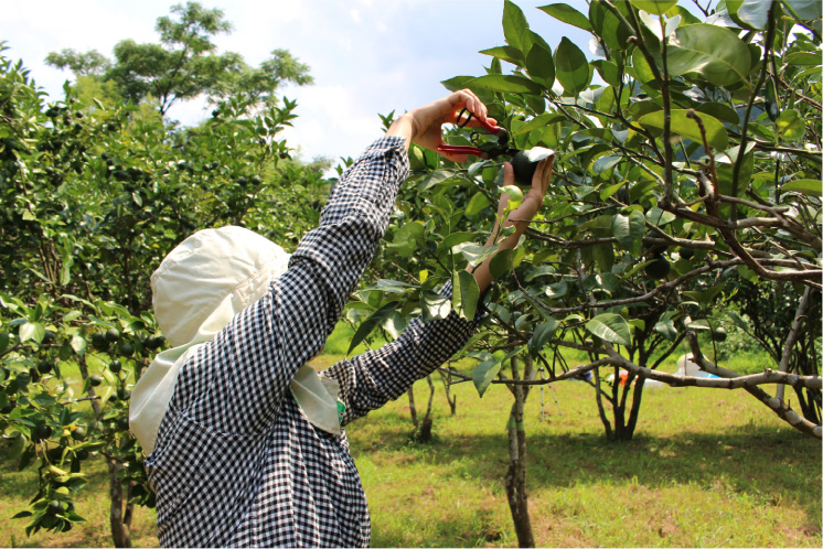
<svg viewBox="0 0 823 549">
<path fill-rule="evenodd" d="M 474 115 L 468 123 L 469 127 L 482 126 L 481 120 L 496 125 L 495 119 L 489 118 L 485 105 L 478 99 L 478 96 L 469 89 L 461 89 L 404 115 L 412 121 L 412 141 L 426 149 L 437 151 L 439 146 L 446 144 L 442 140 L 441 126 L 443 123 L 457 123 L 458 114 L 463 108 Z M 451 152 L 440 152 L 440 154 L 455 162 L 469 160 L 468 154 Z"/>
</svg>

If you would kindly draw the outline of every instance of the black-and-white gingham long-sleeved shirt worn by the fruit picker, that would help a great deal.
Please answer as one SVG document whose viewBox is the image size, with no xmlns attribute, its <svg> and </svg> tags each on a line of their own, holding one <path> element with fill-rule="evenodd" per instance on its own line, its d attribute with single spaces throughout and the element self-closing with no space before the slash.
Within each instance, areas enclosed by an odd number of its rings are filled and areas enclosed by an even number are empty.
<svg viewBox="0 0 823 549">
<path fill-rule="evenodd" d="M 400 138 L 373 143 L 289 270 L 184 365 L 146 460 L 163 546 L 368 546 L 345 432 L 314 430 L 288 387 L 334 327 L 407 173 Z M 322 373 L 340 381 L 343 424 L 403 395 L 459 351 L 477 322 L 417 320 L 396 342 Z"/>
</svg>

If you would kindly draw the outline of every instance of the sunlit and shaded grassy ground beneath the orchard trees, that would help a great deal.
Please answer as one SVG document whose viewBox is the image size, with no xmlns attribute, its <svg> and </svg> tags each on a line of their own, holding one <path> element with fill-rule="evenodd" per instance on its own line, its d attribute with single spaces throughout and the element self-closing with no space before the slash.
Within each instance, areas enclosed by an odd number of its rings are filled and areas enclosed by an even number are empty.
<svg viewBox="0 0 823 549">
<path fill-rule="evenodd" d="M 345 352 L 350 334 L 338 332 L 320 367 Z M 461 384 L 452 387 L 450 417 L 436 387 L 430 444 L 409 441 L 405 397 L 348 429 L 372 509 L 372 545 L 516 546 L 503 487 L 511 395 L 492 386 L 479 399 Z M 416 396 L 419 409 L 425 381 Z M 537 546 L 821 547 L 821 444 L 747 394 L 648 389 L 630 443 L 605 441 L 589 386 L 544 389 L 543 410 L 541 397 L 539 389 L 530 395 L 525 421 Z M 34 474 L 0 460 L 0 516 L 25 506 Z M 101 465 L 89 481 L 77 502 L 88 523 L 26 538 L 25 520 L 4 520 L 0 545 L 110 546 Z M 135 546 L 157 546 L 153 512 L 138 509 L 132 530 Z"/>
</svg>

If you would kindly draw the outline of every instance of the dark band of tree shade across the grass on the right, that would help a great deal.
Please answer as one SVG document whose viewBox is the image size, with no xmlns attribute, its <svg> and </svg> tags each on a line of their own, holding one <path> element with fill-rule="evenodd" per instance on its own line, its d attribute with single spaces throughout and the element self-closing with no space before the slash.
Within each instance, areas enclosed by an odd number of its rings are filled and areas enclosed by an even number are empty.
<svg viewBox="0 0 823 549">
<path fill-rule="evenodd" d="M 371 426 L 368 439 L 380 443 L 353 441 L 354 455 L 407 452 L 432 465 L 450 465 L 447 476 L 502 482 L 509 464 L 505 433 L 440 435 L 424 446 L 409 442 L 407 420 L 399 431 L 394 423 Z M 596 483 L 638 483 L 652 489 L 693 484 L 729 496 L 745 493 L 761 505 L 797 505 L 806 513 L 810 527 L 820 531 L 820 443 L 801 433 L 747 426 L 722 434 L 642 435 L 630 442 L 609 442 L 596 433 L 527 435 L 532 489 Z"/>
</svg>

